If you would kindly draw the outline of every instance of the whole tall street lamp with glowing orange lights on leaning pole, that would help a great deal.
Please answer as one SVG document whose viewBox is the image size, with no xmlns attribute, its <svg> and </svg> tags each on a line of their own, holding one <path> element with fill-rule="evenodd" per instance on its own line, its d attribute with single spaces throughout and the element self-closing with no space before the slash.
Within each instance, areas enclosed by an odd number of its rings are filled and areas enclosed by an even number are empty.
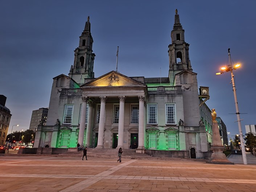
<svg viewBox="0 0 256 192">
<path fill-rule="evenodd" d="M 245 153 L 245 148 L 244 148 L 244 138 L 243 138 L 243 132 L 242 132 L 242 128 L 241 128 L 241 120 L 243 120 L 243 119 L 240 119 L 240 113 L 239 113 L 239 109 L 238 109 L 238 100 L 236 97 L 236 86 L 235 86 L 234 74 L 233 74 L 233 70 L 236 70 L 238 67 L 240 67 L 240 64 L 236 64 L 235 67 L 232 67 L 230 49 L 228 49 L 228 59 L 230 61 L 230 64 L 226 67 L 222 67 L 221 71 L 219 73 L 216 73 L 216 75 L 220 75 L 220 74 L 223 74 L 224 72 L 228 72 L 228 71 L 231 72 L 232 87 L 233 87 L 235 106 L 236 106 L 236 117 L 237 117 L 240 142 L 241 142 L 241 151 L 242 151 L 242 155 L 243 155 L 243 162 L 245 165 L 247 165 L 246 153 Z"/>
</svg>

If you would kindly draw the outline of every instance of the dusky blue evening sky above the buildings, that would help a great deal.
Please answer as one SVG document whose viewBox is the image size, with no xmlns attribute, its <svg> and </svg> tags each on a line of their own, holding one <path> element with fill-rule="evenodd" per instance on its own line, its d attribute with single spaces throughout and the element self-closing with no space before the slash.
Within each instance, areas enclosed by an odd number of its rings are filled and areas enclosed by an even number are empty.
<svg viewBox="0 0 256 192">
<path fill-rule="evenodd" d="M 53 78 L 68 75 L 87 17 L 90 16 L 95 78 L 116 69 L 126 76 L 168 77 L 175 9 L 190 44 L 198 87 L 209 87 L 210 100 L 234 138 L 235 101 L 228 48 L 234 71 L 243 134 L 256 124 L 256 1 L 1 1 L 0 95 L 11 110 L 8 133 L 28 129 L 32 110 L 48 107 Z"/>
</svg>

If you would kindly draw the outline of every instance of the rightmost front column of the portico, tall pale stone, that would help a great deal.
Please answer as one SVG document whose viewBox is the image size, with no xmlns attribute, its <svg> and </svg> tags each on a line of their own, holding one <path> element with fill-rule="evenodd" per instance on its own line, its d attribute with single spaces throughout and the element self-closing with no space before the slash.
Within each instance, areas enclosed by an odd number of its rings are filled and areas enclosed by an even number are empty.
<svg viewBox="0 0 256 192">
<path fill-rule="evenodd" d="M 139 145 L 138 149 L 145 149 L 144 146 L 144 120 L 145 120 L 145 108 L 144 101 L 145 96 L 139 97 Z"/>
</svg>

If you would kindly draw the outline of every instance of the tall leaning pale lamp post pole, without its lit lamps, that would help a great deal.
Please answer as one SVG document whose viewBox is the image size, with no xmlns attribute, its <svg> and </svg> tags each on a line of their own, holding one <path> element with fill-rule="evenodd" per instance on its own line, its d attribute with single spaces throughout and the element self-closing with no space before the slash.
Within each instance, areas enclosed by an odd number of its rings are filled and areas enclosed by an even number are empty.
<svg viewBox="0 0 256 192">
<path fill-rule="evenodd" d="M 232 71 L 233 69 L 232 69 L 232 64 L 231 64 L 230 49 L 228 49 L 228 59 L 230 61 L 230 72 L 231 72 L 232 87 L 233 87 L 233 92 L 234 92 L 234 97 L 235 97 L 236 117 L 237 117 L 238 129 L 239 129 L 239 135 L 240 135 L 241 151 L 242 151 L 242 155 L 243 155 L 243 162 L 245 165 L 247 165 L 247 158 L 246 158 L 246 153 L 245 153 L 245 148 L 244 148 L 244 138 L 243 138 L 243 132 L 242 132 L 242 128 L 241 128 L 241 119 L 240 119 L 240 113 L 239 113 L 239 109 L 238 109 L 238 100 L 236 97 L 236 86 L 235 86 L 235 81 L 234 81 L 234 74 Z"/>
</svg>

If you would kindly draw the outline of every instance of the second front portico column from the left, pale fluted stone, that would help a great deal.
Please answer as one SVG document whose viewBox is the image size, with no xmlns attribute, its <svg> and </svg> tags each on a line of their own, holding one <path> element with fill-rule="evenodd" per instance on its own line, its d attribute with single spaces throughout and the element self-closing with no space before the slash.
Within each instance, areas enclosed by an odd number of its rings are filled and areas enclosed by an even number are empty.
<svg viewBox="0 0 256 192">
<path fill-rule="evenodd" d="M 100 122 L 99 122 L 99 133 L 98 133 L 98 144 L 96 148 L 103 148 L 106 99 L 107 99 L 106 96 L 100 96 Z"/>
</svg>

